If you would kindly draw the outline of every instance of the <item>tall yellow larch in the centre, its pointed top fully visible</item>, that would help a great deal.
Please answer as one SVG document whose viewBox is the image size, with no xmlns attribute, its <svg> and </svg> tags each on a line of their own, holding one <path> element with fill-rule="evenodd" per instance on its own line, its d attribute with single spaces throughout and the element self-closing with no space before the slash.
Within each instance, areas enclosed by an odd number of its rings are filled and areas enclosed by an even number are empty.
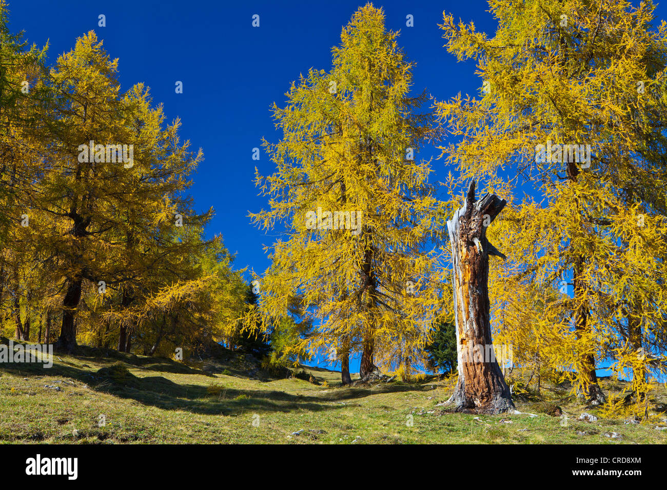
<svg viewBox="0 0 667 490">
<path fill-rule="evenodd" d="M 397 37 L 382 9 L 358 9 L 332 49 L 331 70 L 311 69 L 291 85 L 284 108 L 274 105 L 284 136 L 265 146 L 277 171 L 257 174 L 271 209 L 253 221 L 283 223 L 288 236 L 256 278 L 260 309 L 279 323 L 299 298 L 319 323 L 303 345 L 338 349 L 344 382 L 355 351 L 362 377 L 376 363 L 399 368 L 407 351 L 421 355 L 438 303 L 436 283 L 426 279 L 435 264 L 427 246 L 437 233 L 431 168 L 414 161 L 433 117 L 418 113 L 425 93 L 409 95 L 413 63 Z"/>
</svg>

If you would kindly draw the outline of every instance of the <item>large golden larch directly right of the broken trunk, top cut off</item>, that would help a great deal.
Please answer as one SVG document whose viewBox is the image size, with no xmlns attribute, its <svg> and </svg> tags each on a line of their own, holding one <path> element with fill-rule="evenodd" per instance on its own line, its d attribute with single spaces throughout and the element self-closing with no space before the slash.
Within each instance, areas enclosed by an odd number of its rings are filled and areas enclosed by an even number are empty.
<svg viewBox="0 0 667 490">
<path fill-rule="evenodd" d="M 448 50 L 477 59 L 482 77 L 481 99 L 438 107 L 460 139 L 444 154 L 462 178 L 484 178 L 510 202 L 490 230 L 508 254 L 490 277 L 504 298 L 492 301 L 508 305 L 514 289 L 514 307 L 536 312 L 539 298 L 540 335 L 523 338 L 543 341 L 531 350 L 546 349 L 554 372 L 574 367 L 580 393 L 603 403 L 600 359 L 623 364 L 636 359 L 638 337 L 664 338 L 665 285 L 651 278 L 665 271 L 665 31 L 652 27 L 650 1 L 490 7 L 494 37 L 451 15 L 441 26 Z M 518 190 L 530 195 L 517 202 Z"/>
</svg>

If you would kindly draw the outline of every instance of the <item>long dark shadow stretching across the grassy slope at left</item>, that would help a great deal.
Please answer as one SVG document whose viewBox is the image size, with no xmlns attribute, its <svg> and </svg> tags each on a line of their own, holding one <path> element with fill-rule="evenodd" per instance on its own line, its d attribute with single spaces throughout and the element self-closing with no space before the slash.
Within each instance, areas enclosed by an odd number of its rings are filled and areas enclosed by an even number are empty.
<svg viewBox="0 0 667 490">
<path fill-rule="evenodd" d="M 67 377 L 85 383 L 91 389 L 116 397 L 132 399 L 165 410 L 183 410 L 207 415 L 237 415 L 245 411 L 290 412 L 297 410 L 322 411 L 344 408 L 342 401 L 360 399 L 378 393 L 402 391 L 428 391 L 426 383 L 382 383 L 375 387 L 331 387 L 321 395 L 298 395 L 279 390 L 233 389 L 224 385 L 224 379 L 194 369 L 166 358 L 139 357 L 101 349 L 79 349 L 77 355 L 59 358 L 45 368 L 42 363 L 3 364 L 0 371 L 17 376 Z M 97 371 L 87 363 L 101 366 Z M 85 368 L 91 368 L 90 370 Z M 161 376 L 137 377 L 127 368 L 175 373 L 179 375 L 203 375 L 219 381 L 209 387 L 181 384 Z M 311 368 L 312 369 L 312 368 Z M 213 380 L 211 380 L 213 381 Z M 50 383 L 48 383 L 50 384 Z M 67 389 L 66 385 L 63 388 Z"/>
</svg>

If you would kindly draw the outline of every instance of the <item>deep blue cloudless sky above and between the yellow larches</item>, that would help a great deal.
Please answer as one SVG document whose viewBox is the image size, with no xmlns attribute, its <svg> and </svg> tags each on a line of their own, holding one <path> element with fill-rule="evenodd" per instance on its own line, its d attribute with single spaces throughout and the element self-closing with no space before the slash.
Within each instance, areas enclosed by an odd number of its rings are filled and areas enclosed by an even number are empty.
<svg viewBox="0 0 667 490">
<path fill-rule="evenodd" d="M 269 108 L 283 105 L 284 93 L 299 73 L 310 67 L 329 69 L 331 47 L 363 1 L 237 2 L 177 0 L 9 0 L 9 25 L 25 31 L 29 43 L 49 42 L 49 61 L 69 51 L 75 39 L 94 30 L 112 58 L 119 59 L 121 89 L 144 82 L 153 103 L 163 103 L 167 121 L 180 117 L 181 138 L 201 147 L 204 161 L 194 175 L 191 195 L 199 211 L 215 208 L 209 235 L 221 233 L 237 253 L 237 268 L 262 273 L 269 265 L 263 245 L 268 234 L 250 223 L 249 211 L 266 206 L 253 183 L 255 165 L 269 175 L 273 165 L 261 152 L 251 159 L 261 138 L 277 141 Z M 636 2 L 635 2 L 636 3 Z M 488 3 L 466 1 L 377 1 L 384 7 L 388 29 L 401 31 L 400 45 L 417 62 L 414 89 L 427 89 L 436 99 L 458 92 L 476 94 L 481 81 L 474 63 L 457 63 L 444 49 L 438 23 L 442 12 L 474 21 L 492 35 L 496 21 Z M 259 27 L 252 27 L 253 15 Z M 414 27 L 406 27 L 406 16 Z M 98 17 L 105 15 L 105 27 Z M 658 6 L 658 19 L 667 17 Z M 175 93 L 176 81 L 183 93 Z M 438 150 L 418 157 L 437 157 Z M 444 180 L 450 169 L 433 162 L 432 181 Z M 352 371 L 358 363 L 352 363 Z"/>
</svg>

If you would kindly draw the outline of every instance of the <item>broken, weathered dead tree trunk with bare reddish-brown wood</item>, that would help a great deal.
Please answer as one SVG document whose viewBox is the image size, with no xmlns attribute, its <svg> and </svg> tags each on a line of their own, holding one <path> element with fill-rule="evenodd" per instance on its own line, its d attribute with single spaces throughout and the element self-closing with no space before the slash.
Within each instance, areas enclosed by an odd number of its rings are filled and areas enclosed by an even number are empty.
<svg viewBox="0 0 667 490">
<path fill-rule="evenodd" d="M 496 361 L 489 320 L 489 255 L 506 257 L 486 239 L 486 226 L 505 205 L 506 201 L 495 194 L 476 201 L 473 181 L 466 202 L 447 222 L 458 354 L 458 382 L 448 403 L 457 411 L 501 413 L 514 409 L 510 388 Z"/>
</svg>

